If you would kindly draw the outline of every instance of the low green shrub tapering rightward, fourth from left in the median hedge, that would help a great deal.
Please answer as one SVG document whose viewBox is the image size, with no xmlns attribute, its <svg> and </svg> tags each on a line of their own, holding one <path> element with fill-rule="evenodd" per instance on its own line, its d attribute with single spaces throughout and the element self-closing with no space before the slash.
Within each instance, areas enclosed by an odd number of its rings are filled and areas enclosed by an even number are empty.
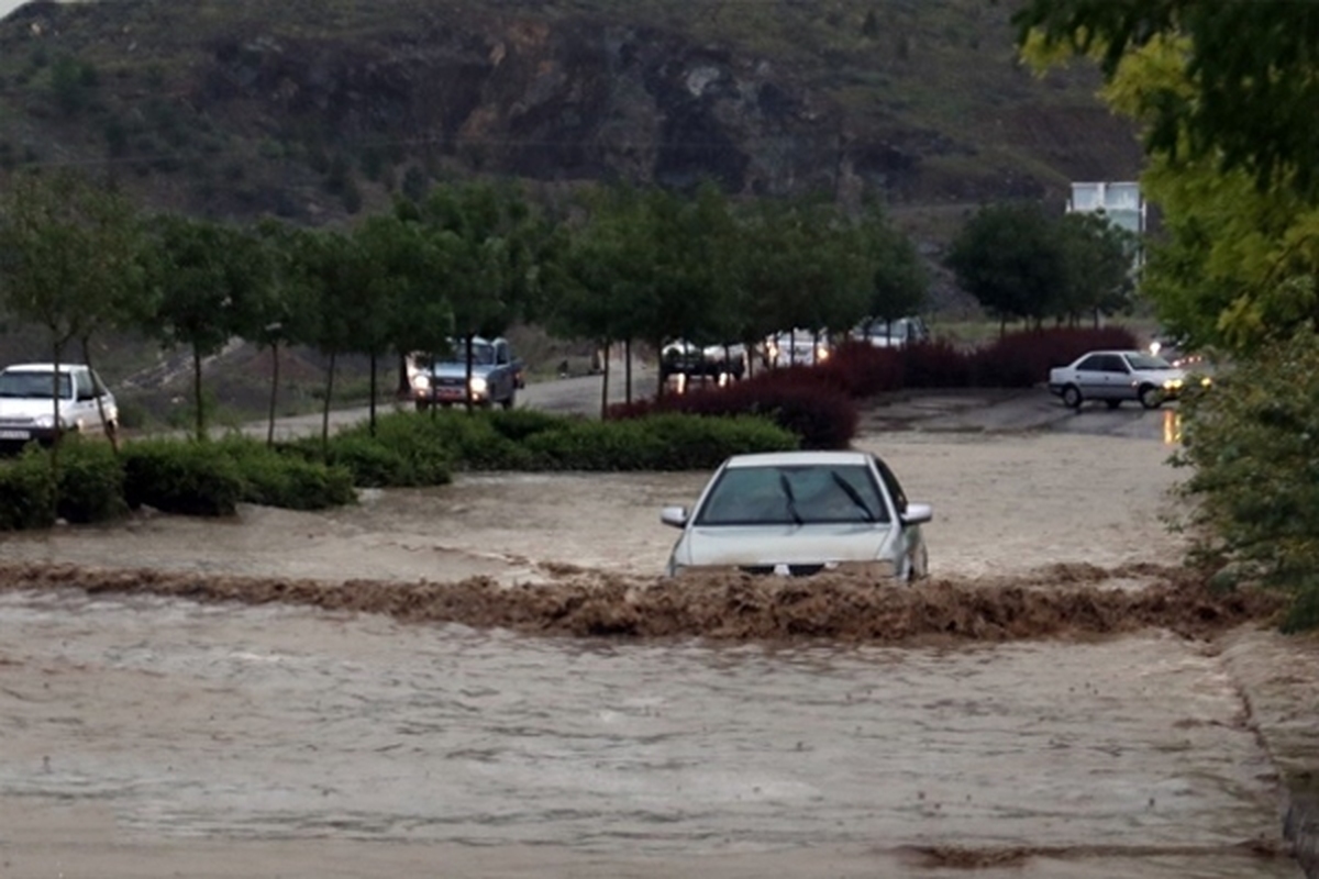
<svg viewBox="0 0 1319 879">
<path fill-rule="evenodd" d="M 342 467 L 280 455 L 265 444 L 245 438 L 230 438 L 216 451 L 237 464 L 243 477 L 243 499 L 248 503 L 288 510 L 323 510 L 352 503 L 352 474 Z"/>
</svg>

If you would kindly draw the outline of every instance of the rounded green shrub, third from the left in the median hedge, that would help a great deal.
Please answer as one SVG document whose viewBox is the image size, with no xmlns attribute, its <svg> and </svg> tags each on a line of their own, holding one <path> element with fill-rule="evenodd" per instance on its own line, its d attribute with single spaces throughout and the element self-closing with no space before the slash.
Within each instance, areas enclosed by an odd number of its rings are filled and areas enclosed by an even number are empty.
<svg viewBox="0 0 1319 879">
<path fill-rule="evenodd" d="M 214 443 L 140 440 L 127 443 L 124 496 L 128 506 L 164 513 L 232 515 L 243 499 L 237 463 Z"/>
</svg>

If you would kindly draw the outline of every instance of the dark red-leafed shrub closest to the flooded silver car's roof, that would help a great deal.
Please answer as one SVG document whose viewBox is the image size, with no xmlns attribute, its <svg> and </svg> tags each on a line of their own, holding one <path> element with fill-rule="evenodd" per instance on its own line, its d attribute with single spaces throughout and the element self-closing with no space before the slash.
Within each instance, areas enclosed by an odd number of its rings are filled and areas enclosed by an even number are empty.
<svg viewBox="0 0 1319 879">
<path fill-rule="evenodd" d="M 852 399 L 818 370 L 795 366 L 758 373 L 724 387 L 667 393 L 660 399 L 609 407 L 611 418 L 653 412 L 760 415 L 797 434 L 802 448 L 847 448 L 859 414 Z"/>
</svg>

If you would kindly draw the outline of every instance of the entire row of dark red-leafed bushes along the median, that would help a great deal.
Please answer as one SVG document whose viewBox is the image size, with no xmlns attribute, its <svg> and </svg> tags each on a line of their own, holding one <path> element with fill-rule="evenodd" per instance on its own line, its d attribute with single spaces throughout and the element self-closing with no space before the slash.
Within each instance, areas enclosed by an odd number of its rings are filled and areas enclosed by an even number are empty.
<svg viewBox="0 0 1319 879">
<path fill-rule="evenodd" d="M 847 448 L 857 399 L 917 387 L 1030 387 L 1046 381 L 1051 366 L 1088 351 L 1134 347 L 1136 337 L 1120 327 L 1016 332 L 975 351 L 947 343 L 901 349 L 848 343 L 819 365 L 766 369 L 721 387 L 613 406 L 611 415 L 760 415 L 799 436 L 805 448 Z"/>
</svg>

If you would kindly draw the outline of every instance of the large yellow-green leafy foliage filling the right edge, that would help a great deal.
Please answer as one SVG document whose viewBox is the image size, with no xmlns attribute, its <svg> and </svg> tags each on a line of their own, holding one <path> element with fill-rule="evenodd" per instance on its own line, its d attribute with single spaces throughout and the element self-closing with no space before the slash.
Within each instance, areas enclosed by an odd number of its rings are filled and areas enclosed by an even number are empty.
<svg viewBox="0 0 1319 879">
<path fill-rule="evenodd" d="M 1017 22 L 1038 63 L 1097 55 L 1105 99 L 1148 132 L 1141 183 L 1163 239 L 1142 291 L 1174 331 L 1232 358 L 1184 409 L 1198 548 L 1227 580 L 1289 589 L 1289 625 L 1312 627 L 1319 7 L 1031 0 Z"/>
</svg>

